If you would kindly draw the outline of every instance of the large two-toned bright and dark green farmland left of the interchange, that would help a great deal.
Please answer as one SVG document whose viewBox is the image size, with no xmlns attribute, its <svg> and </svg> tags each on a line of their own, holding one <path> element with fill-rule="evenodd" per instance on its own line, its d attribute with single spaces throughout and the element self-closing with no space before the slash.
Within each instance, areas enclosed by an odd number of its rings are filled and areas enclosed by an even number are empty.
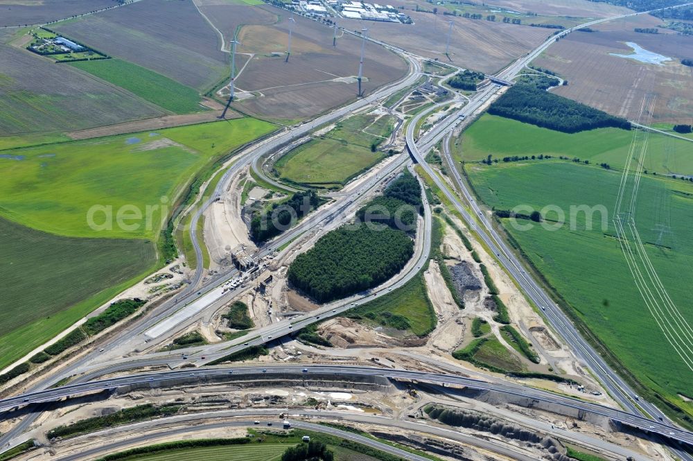
<svg viewBox="0 0 693 461">
<path fill-rule="evenodd" d="M 274 125 L 234 119 L 6 150 L 0 157 L 0 367 L 132 285 L 157 264 L 161 220 L 191 177 Z M 168 209 L 151 213 L 146 207 Z M 112 207 L 112 229 L 87 225 Z M 117 212 L 143 217 L 117 225 Z M 107 210 L 107 209 L 105 209 Z M 121 211 L 122 212 L 122 211 Z M 105 222 L 105 214 L 94 221 Z M 26 227 L 24 227 L 26 226 Z M 161 261 L 159 261 L 159 264 Z"/>
</svg>

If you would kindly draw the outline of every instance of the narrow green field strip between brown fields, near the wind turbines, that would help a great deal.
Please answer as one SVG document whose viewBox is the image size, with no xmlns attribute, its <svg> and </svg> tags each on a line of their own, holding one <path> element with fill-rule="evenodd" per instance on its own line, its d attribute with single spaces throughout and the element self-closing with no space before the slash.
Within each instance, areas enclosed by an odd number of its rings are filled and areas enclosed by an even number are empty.
<svg viewBox="0 0 693 461">
<path fill-rule="evenodd" d="M 91 73 L 170 112 L 200 112 L 200 94 L 175 80 L 120 59 L 71 62 L 77 69 Z"/>
</svg>

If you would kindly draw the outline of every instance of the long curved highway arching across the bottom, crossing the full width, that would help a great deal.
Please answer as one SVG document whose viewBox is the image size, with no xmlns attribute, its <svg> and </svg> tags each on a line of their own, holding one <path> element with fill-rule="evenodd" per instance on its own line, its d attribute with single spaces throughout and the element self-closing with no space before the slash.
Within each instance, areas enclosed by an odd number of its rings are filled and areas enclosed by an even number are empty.
<svg viewBox="0 0 693 461">
<path fill-rule="evenodd" d="M 436 374 L 429 372 L 414 372 L 405 369 L 383 369 L 376 367 L 356 367 L 347 365 L 263 365 L 243 367 L 202 367 L 198 369 L 179 369 L 166 372 L 138 373 L 125 376 L 100 379 L 86 383 L 64 385 L 60 388 L 51 388 L 37 392 L 17 395 L 0 400 L 0 411 L 10 411 L 26 405 L 37 405 L 46 402 L 55 402 L 75 397 L 82 394 L 100 392 L 103 390 L 116 390 L 124 385 L 146 385 L 148 387 L 165 387 L 167 383 L 181 383 L 187 381 L 196 383 L 211 378 L 224 381 L 243 380 L 252 377 L 255 381 L 272 379 L 272 376 L 297 376 L 304 379 L 306 376 L 340 376 L 343 379 L 350 377 L 373 376 L 382 379 L 409 380 L 435 385 L 464 386 L 475 390 L 500 392 L 515 397 L 523 397 L 553 403 L 559 406 L 574 408 L 594 415 L 607 417 L 613 421 L 627 424 L 633 428 L 639 428 L 652 434 L 661 435 L 667 440 L 681 442 L 693 447 L 693 433 L 678 428 L 672 428 L 667 424 L 652 421 L 646 417 L 635 415 L 631 412 L 590 403 L 572 397 L 565 397 L 552 392 L 527 388 L 513 383 L 489 383 L 477 379 L 456 376 L 453 374 Z"/>
</svg>

